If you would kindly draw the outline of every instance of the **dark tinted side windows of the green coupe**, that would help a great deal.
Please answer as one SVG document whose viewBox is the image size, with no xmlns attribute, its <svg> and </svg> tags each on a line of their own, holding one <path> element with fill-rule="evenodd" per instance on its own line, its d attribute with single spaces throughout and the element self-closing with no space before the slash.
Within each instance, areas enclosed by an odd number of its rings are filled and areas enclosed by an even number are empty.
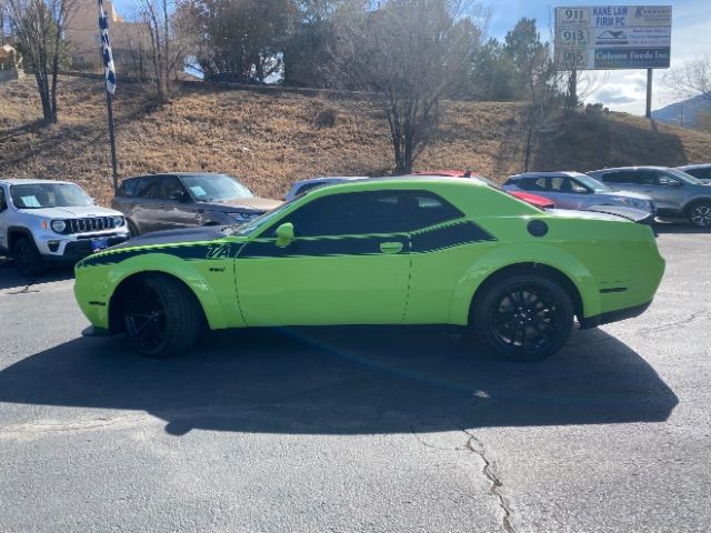
<svg viewBox="0 0 711 533">
<path fill-rule="evenodd" d="M 279 224 L 291 222 L 297 237 L 402 233 L 461 217 L 428 191 L 365 191 L 316 199 Z"/>
</svg>

